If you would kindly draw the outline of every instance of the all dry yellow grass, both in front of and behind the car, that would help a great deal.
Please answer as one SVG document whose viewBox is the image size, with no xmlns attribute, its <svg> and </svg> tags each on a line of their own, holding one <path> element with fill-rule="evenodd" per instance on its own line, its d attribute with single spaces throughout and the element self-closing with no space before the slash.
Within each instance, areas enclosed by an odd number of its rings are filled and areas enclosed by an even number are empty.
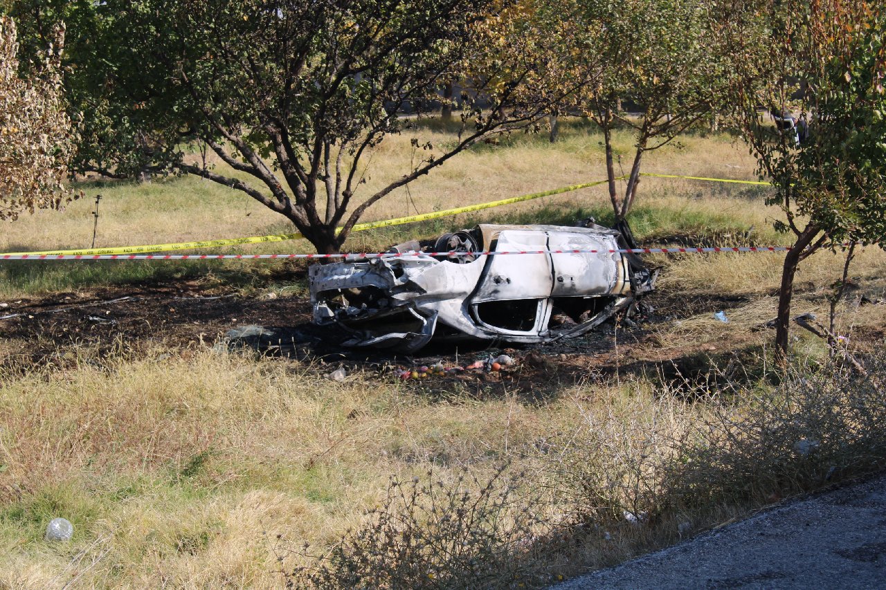
<svg viewBox="0 0 886 590">
<path fill-rule="evenodd" d="M 435 144 L 448 141 L 439 131 L 424 135 Z M 367 191 L 401 174 L 412 157 L 409 137 L 394 137 L 379 148 Z M 369 219 L 600 178 L 599 140 L 588 128 L 573 123 L 563 130 L 563 142 L 555 145 L 543 136 L 513 136 L 498 146 L 480 145 L 423 178 L 409 192 L 398 191 L 371 210 Z M 626 137 L 621 136 L 620 142 L 619 150 L 627 153 Z M 752 178 L 753 162 L 725 136 L 688 136 L 680 149 L 651 154 L 646 170 Z M 143 186 L 109 183 L 89 188 L 87 195 L 95 190 L 105 195 L 99 245 L 284 229 L 282 220 L 248 198 L 196 179 L 159 180 Z M 783 240 L 770 229 L 768 220 L 775 213 L 761 204 L 761 195 L 761 190 L 732 185 L 647 178 L 641 184 L 633 227 L 650 243 Z M 533 221 L 568 219 L 574 214 L 595 214 L 602 219 L 607 203 L 602 188 L 584 190 L 513 210 L 487 212 L 483 219 Z M 44 212 L 17 221 L 0 238 L 5 240 L 2 247 L 88 245 L 90 210 L 91 203 L 85 200 L 63 214 Z M 432 235 L 449 223 L 458 226 L 475 219 L 364 232 L 355 235 L 350 245 L 373 250 L 413 231 Z M 754 229 L 745 237 L 751 225 Z M 303 243 L 252 248 L 307 251 Z M 687 255 L 655 260 L 664 265 L 660 287 L 665 295 L 744 299 L 727 309 L 731 318 L 727 324 L 717 322 L 710 313 L 659 324 L 659 345 L 652 346 L 651 353 L 671 359 L 705 343 L 715 346 L 716 353 L 730 353 L 737 347 L 760 351 L 759 362 L 742 373 L 741 383 L 674 389 L 654 374 L 604 379 L 589 370 L 578 383 L 552 382 L 546 401 L 531 404 L 517 395 L 460 390 L 432 396 L 374 373 L 356 373 L 335 383 L 324 377 L 330 369 L 322 365 L 219 355 L 207 346 L 170 350 L 160 344 L 145 350 L 128 343 L 120 343 L 111 355 L 89 348 L 59 351 L 67 359 L 62 368 L 35 368 L 27 375 L 4 370 L 0 374 L 0 587 L 62 587 L 74 578 L 68 587 L 278 587 L 284 577 L 276 571 L 280 565 L 275 561 L 275 547 L 283 548 L 284 566 L 291 569 L 308 563 L 298 551 L 288 551 L 300 547 L 302 541 L 324 548 L 343 537 L 354 540 L 354 534 L 361 533 L 363 539 L 376 542 L 380 538 L 372 535 L 379 521 L 365 516 L 364 509 L 374 505 L 401 509 L 402 504 L 385 500 L 388 477 L 404 482 L 418 477 L 421 489 L 431 481 L 429 470 L 432 479 L 443 482 L 447 490 L 463 485 L 473 501 L 482 497 L 484 482 L 494 480 L 501 465 L 508 464 L 509 482 L 511 476 L 525 471 L 523 481 L 509 488 L 517 497 L 556 499 L 556 503 L 536 506 L 532 516 L 538 520 L 527 524 L 528 528 L 517 522 L 519 513 L 501 516 L 510 519 L 502 521 L 508 524 L 503 530 L 536 535 L 495 550 L 495 558 L 504 560 L 502 571 L 524 575 L 521 568 L 530 546 L 532 551 L 541 551 L 547 563 L 525 574 L 526 584 L 615 563 L 740 515 L 766 501 L 767 494 L 773 493 L 773 480 L 766 473 L 734 471 L 742 477 L 759 477 L 761 483 L 753 493 L 724 495 L 734 481 L 729 479 L 732 471 L 690 473 L 678 469 L 686 463 L 672 460 L 695 453 L 691 456 L 715 457 L 720 465 L 734 466 L 739 463 L 727 459 L 745 455 L 719 453 L 718 449 L 725 449 L 722 446 L 673 443 L 700 436 L 718 421 L 732 424 L 742 416 L 750 419 L 755 408 L 769 408 L 768 413 L 756 415 L 758 421 L 784 424 L 779 416 L 795 419 L 801 410 L 808 414 L 813 401 L 826 399 L 810 397 L 809 404 L 787 414 L 769 411 L 775 406 L 763 403 L 769 394 L 780 399 L 781 390 L 773 389 L 772 376 L 760 368 L 765 358 L 762 351 L 771 337 L 750 328 L 773 316 L 781 256 Z M 828 285 L 840 276 L 841 265 L 839 256 L 827 252 L 804 263 L 797 279 L 797 310 L 825 309 Z M 56 273 L 52 276 L 50 271 L 31 268 L 28 272 L 39 276 L 22 278 L 24 271 L 19 268 L 5 271 L 2 289 L 12 297 L 136 276 L 122 270 L 136 267 L 118 268 L 113 271 L 118 275 L 103 271 L 105 275 L 93 278 L 72 278 L 74 273 L 64 267 L 52 271 Z M 884 271 L 882 252 L 867 249 L 859 255 L 851 271 L 859 277 L 859 293 L 874 299 L 886 297 Z M 153 272 L 140 276 L 150 278 Z M 207 268 L 175 272 L 202 274 Z M 882 327 L 886 306 L 856 308 L 859 293 L 840 307 L 841 333 Z M 825 356 L 814 338 L 798 336 L 799 353 L 813 359 Z M 6 343 L 4 350 L 18 345 L 27 343 Z M 816 391 L 856 392 L 851 384 L 843 379 Z M 735 397 L 735 388 L 743 388 L 742 395 Z M 718 395 L 711 397 L 711 392 Z M 869 396 L 859 399 L 872 400 Z M 879 409 L 868 405 L 871 415 L 877 415 L 874 410 Z M 824 424 L 820 431 L 827 426 L 828 432 L 835 432 L 835 423 L 826 422 L 816 422 Z M 780 432 L 782 442 L 791 444 L 799 436 L 790 429 Z M 761 443 L 748 437 L 746 446 L 732 448 L 751 456 Z M 856 465 L 858 469 L 869 466 Z M 471 477 L 460 482 L 465 468 Z M 779 483 L 781 494 L 821 483 L 809 475 L 811 471 L 784 473 L 793 474 L 793 479 L 789 485 Z M 680 487 L 699 478 L 713 482 L 708 489 L 719 494 L 714 500 L 701 501 Z M 501 490 L 494 486 L 495 493 Z M 428 514 L 420 504 L 427 497 L 418 496 L 419 504 L 411 513 L 418 515 L 416 523 Z M 669 498 L 677 501 L 665 505 Z M 626 509 L 655 518 L 648 524 L 631 524 L 623 513 Z M 497 517 L 494 510 L 484 514 L 481 523 Z M 51 545 L 43 541 L 43 530 L 53 516 L 65 516 L 74 523 L 73 542 Z M 539 522 L 544 526 L 532 528 Z M 681 526 L 687 522 L 688 526 Z M 354 531 L 350 537 L 349 528 Z M 369 547 L 400 547 L 397 534 L 389 530 L 382 545 Z M 279 540 L 276 535 L 281 535 Z M 352 547 L 359 553 L 360 546 L 339 547 Z M 354 554 L 339 555 L 339 563 L 347 563 L 348 555 Z M 523 561 L 511 567 L 506 563 L 509 559 Z M 396 565 L 385 563 L 385 567 Z M 435 572 L 434 578 L 422 578 L 422 584 L 446 587 L 445 572 Z M 499 582 L 508 586 L 514 580 Z"/>
</svg>

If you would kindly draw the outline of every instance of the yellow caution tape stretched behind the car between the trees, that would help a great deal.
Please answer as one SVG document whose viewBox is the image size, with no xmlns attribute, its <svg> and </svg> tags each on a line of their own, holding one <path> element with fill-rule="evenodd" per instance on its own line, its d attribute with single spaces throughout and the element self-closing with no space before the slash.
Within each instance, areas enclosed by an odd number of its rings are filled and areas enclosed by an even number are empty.
<svg viewBox="0 0 886 590">
<path fill-rule="evenodd" d="M 737 184 L 758 184 L 758 185 L 769 185 L 769 182 L 760 182 L 760 181 L 742 181 L 742 180 L 730 180 L 727 178 L 704 178 L 702 176 L 680 176 L 680 175 L 656 175 L 649 173 L 642 173 L 641 176 L 657 176 L 658 178 L 686 178 L 689 180 L 701 180 L 701 181 L 711 181 L 711 182 L 734 182 Z M 622 180 L 625 176 L 619 176 L 615 180 Z M 514 203 L 521 203 L 523 201 L 530 201 L 534 198 L 542 198 L 542 197 L 550 197 L 552 195 L 559 195 L 564 192 L 570 192 L 572 190 L 579 189 L 587 189 L 592 186 L 599 186 L 600 184 L 605 184 L 609 181 L 596 181 L 596 182 L 584 182 L 582 184 L 572 184 L 570 186 L 564 186 L 560 189 L 553 190 L 544 190 L 542 192 L 533 192 L 528 195 L 522 195 L 520 197 L 511 197 L 511 198 L 502 198 L 498 201 L 492 201 L 489 203 L 480 203 L 478 205 L 468 205 L 463 207 L 455 207 L 455 209 L 444 209 L 443 211 L 434 211 L 433 213 L 419 213 L 416 215 L 409 215 L 408 217 L 398 217 L 396 219 L 389 219 L 385 221 L 369 221 L 367 223 L 358 223 L 354 225 L 352 231 L 362 231 L 364 229 L 377 229 L 377 228 L 389 228 L 394 225 L 402 225 L 404 223 L 415 223 L 416 221 L 429 221 L 432 219 L 439 219 L 440 217 L 449 217 L 452 215 L 458 215 L 460 213 L 471 213 L 474 211 L 482 211 L 483 209 L 491 209 L 493 207 L 500 207 L 504 205 L 513 205 Z M 95 256 L 95 255 L 103 255 L 103 254 L 145 254 L 151 252 L 174 252 L 176 250 L 196 250 L 198 248 L 217 248 L 221 246 L 229 246 L 229 245 L 244 245 L 244 244 L 268 244 L 271 242 L 284 242 L 286 240 L 296 240 L 303 239 L 304 236 L 300 233 L 296 232 L 293 234 L 274 234 L 270 236 L 253 236 L 253 237 L 235 237 L 229 239 L 220 239 L 220 240 L 204 240 L 199 242 L 179 242 L 176 244 L 149 244 L 149 245 L 132 245 L 132 246 L 117 246 L 113 248 L 87 248 L 84 250 L 48 250 L 43 252 L 4 252 L 10 256 Z"/>
</svg>

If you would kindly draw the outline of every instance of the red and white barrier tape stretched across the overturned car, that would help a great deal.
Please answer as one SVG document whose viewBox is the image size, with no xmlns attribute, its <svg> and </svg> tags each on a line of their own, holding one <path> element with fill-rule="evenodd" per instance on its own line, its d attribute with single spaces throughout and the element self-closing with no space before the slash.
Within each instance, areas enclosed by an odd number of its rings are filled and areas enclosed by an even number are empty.
<svg viewBox="0 0 886 590">
<path fill-rule="evenodd" d="M 276 259 L 387 259 L 446 256 L 500 256 L 502 254 L 668 254 L 681 252 L 788 252 L 790 246 L 717 246 L 711 248 L 618 248 L 613 250 L 515 250 L 511 252 L 350 252 L 342 254 L 0 254 L 0 260 L 276 260 Z"/>
</svg>

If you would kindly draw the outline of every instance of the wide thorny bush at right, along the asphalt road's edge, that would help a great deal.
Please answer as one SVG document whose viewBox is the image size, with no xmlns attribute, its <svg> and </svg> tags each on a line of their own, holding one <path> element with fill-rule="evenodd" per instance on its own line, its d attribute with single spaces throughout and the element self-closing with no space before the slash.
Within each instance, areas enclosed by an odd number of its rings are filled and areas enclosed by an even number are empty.
<svg viewBox="0 0 886 590">
<path fill-rule="evenodd" d="M 559 501 L 583 525 L 655 526 L 881 468 L 886 398 L 876 377 L 886 358 L 867 365 L 874 379 L 831 362 L 795 367 L 775 387 L 733 380 L 687 395 L 664 386 L 652 403 L 587 412 L 552 467 L 567 482 Z"/>
</svg>

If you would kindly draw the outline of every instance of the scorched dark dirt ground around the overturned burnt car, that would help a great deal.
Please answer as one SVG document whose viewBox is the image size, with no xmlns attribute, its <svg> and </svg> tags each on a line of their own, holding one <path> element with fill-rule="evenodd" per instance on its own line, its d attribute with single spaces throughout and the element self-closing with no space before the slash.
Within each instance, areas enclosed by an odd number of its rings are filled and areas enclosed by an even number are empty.
<svg viewBox="0 0 886 590">
<path fill-rule="evenodd" d="M 303 282 L 303 272 L 278 279 Z M 725 366 L 728 371 L 741 365 L 747 355 L 758 354 L 758 335 L 748 330 L 745 336 L 732 336 L 727 342 L 702 346 L 697 342 L 684 346 L 668 342 L 663 346 L 662 340 L 667 338 L 664 330 L 697 314 L 720 310 L 729 314 L 731 309 L 751 302 L 750 297 L 742 296 L 685 296 L 656 291 L 644 299 L 645 315 L 628 321 L 619 318 L 585 336 L 556 344 L 513 347 L 485 342 L 431 343 L 415 356 L 404 356 L 341 346 L 347 335 L 313 325 L 310 302 L 305 297 L 244 295 L 243 291 L 190 280 L 10 301 L 0 310 L 0 338 L 4 338 L 7 348 L 4 364 L 11 369 L 74 366 L 82 361 L 78 358 L 82 350 L 101 359 L 124 349 L 137 354 L 162 347 L 167 353 L 187 357 L 201 347 L 214 347 L 216 351 L 245 347 L 307 361 L 327 373 L 345 367 L 348 372 L 362 370 L 377 372 L 380 378 L 395 378 L 385 373 L 397 367 L 412 369 L 436 362 L 447 368 L 464 367 L 507 353 L 516 362 L 501 371 L 471 369 L 416 380 L 416 386 L 440 393 L 456 388 L 478 394 L 505 390 L 540 400 L 550 394 L 552 382 L 569 385 L 616 372 L 621 376 L 651 375 L 687 385 L 717 378 L 723 370 L 712 368 Z M 882 338 L 882 329 L 856 334 L 858 344 Z"/>
</svg>

